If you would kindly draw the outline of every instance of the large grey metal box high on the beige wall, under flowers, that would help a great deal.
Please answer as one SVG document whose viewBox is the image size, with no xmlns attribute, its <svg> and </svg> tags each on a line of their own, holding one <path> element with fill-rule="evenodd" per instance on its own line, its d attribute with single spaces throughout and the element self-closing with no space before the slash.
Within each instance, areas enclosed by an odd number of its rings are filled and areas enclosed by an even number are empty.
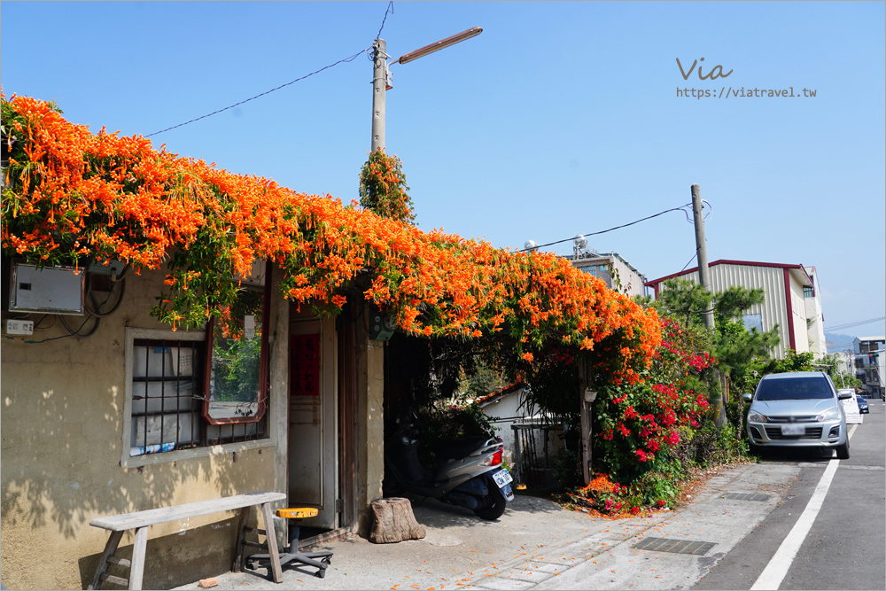
<svg viewBox="0 0 886 591">
<path fill-rule="evenodd" d="M 44 267 L 12 263 L 11 312 L 84 315 L 86 272 L 74 267 Z"/>
</svg>

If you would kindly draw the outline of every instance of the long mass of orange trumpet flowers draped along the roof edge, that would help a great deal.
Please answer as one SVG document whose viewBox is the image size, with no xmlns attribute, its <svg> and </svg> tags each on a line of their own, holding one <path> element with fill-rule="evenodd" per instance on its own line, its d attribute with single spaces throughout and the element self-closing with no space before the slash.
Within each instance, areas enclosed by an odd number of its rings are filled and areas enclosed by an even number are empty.
<svg viewBox="0 0 886 591">
<path fill-rule="evenodd" d="M 155 310 L 166 322 L 202 323 L 229 305 L 230 278 L 260 258 L 283 269 L 284 297 L 330 312 L 345 301 L 338 289 L 368 268 L 364 297 L 412 334 L 495 338 L 503 331 L 520 354 L 524 347 L 589 350 L 616 335 L 613 345 L 627 353 L 608 367 L 628 381 L 660 341 L 654 312 L 553 254 L 423 232 L 353 202 L 155 151 L 140 136 L 93 135 L 34 98 L 3 97 L 3 120 L 14 139 L 4 252 L 45 264 L 116 258 L 136 268 L 159 268 L 171 257 L 172 293 Z"/>
</svg>

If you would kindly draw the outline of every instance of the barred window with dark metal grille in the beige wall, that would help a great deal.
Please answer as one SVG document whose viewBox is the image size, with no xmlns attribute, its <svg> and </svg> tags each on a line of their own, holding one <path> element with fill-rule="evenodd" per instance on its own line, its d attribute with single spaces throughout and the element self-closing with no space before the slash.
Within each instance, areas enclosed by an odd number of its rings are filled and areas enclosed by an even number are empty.
<svg viewBox="0 0 886 591">
<path fill-rule="evenodd" d="M 134 338 L 129 455 L 157 454 L 267 437 L 267 421 L 209 424 L 206 340 Z"/>
</svg>

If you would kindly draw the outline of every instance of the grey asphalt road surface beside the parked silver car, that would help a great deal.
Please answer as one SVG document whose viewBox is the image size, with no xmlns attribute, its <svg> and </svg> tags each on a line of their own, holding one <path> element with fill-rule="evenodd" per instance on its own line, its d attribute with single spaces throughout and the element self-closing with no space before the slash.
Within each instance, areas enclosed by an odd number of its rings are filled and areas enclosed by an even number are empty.
<svg viewBox="0 0 886 591">
<path fill-rule="evenodd" d="M 782 564 L 788 568 L 779 586 L 753 587 L 800 521 L 828 464 L 835 462 L 832 458 L 799 452 L 767 455 L 763 464 L 773 469 L 797 466 L 796 483 L 779 506 L 692 588 L 886 588 L 886 412 L 881 400 L 871 400 L 870 409 L 852 432 L 850 459 L 837 464 L 820 512 L 796 556 L 789 565 Z"/>
</svg>

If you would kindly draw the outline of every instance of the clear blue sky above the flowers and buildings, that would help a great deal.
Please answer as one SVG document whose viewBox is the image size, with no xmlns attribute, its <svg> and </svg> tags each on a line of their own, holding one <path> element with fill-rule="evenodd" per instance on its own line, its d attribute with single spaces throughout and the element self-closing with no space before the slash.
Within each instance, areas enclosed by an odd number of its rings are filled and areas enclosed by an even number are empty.
<svg viewBox="0 0 886 591">
<path fill-rule="evenodd" d="M 368 50 L 387 2 L 14 2 L 4 93 L 92 131 L 149 136 Z M 387 152 L 416 221 L 522 248 L 689 202 L 709 261 L 815 266 L 825 329 L 886 311 L 884 3 L 395 2 Z M 715 66 L 732 74 L 700 80 Z M 704 58 L 704 61 L 700 61 Z M 357 198 L 370 145 L 368 54 L 180 128 L 156 146 L 296 191 Z M 794 97 L 679 97 L 678 89 Z M 815 97 L 799 97 L 803 89 Z M 649 279 L 695 253 L 683 214 L 591 237 Z M 569 242 L 550 247 L 571 253 Z M 695 266 L 693 261 L 690 267 Z M 884 323 L 836 330 L 886 332 Z"/>
</svg>

